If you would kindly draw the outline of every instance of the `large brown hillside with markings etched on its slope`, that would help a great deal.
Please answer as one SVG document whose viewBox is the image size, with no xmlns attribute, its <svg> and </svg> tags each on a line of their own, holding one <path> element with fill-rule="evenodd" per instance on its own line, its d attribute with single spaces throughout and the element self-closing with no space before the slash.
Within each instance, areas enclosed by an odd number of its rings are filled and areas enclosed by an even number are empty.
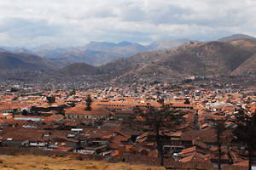
<svg viewBox="0 0 256 170">
<path fill-rule="evenodd" d="M 102 71 L 162 72 L 165 74 L 212 75 L 229 74 L 253 53 L 236 48 L 229 42 L 190 42 L 167 51 L 135 54 L 102 65 Z M 134 65 L 134 66 L 132 66 Z"/>
</svg>

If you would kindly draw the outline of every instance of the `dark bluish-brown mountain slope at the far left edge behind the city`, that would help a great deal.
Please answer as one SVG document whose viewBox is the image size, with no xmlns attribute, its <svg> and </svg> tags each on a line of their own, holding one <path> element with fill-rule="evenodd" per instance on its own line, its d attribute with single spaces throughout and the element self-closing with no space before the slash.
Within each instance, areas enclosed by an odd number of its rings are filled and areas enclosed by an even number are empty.
<svg viewBox="0 0 256 170">
<path fill-rule="evenodd" d="M 61 65 L 33 54 L 0 53 L 0 71 L 25 72 L 25 71 L 57 71 Z"/>
</svg>

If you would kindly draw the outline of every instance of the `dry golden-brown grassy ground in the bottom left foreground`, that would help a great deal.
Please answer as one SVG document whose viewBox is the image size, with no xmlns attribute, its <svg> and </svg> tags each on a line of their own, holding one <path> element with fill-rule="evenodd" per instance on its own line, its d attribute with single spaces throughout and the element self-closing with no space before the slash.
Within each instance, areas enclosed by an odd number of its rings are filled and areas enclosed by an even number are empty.
<svg viewBox="0 0 256 170">
<path fill-rule="evenodd" d="M 131 165 L 125 162 L 108 163 L 107 161 L 79 161 L 74 156 L 5 156 L 0 155 L 0 169 L 166 169 L 164 167 L 150 167 L 146 165 Z"/>
</svg>

